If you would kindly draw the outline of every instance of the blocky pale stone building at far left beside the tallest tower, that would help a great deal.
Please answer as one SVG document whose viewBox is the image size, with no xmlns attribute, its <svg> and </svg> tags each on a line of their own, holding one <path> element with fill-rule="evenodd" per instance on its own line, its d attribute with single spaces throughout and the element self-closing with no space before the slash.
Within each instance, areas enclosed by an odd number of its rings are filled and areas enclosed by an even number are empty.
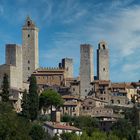
<svg viewBox="0 0 140 140">
<path fill-rule="evenodd" d="M 0 65 L 0 87 L 6 73 L 10 88 L 22 89 L 22 48 L 16 44 L 7 44 L 5 62 Z"/>
</svg>

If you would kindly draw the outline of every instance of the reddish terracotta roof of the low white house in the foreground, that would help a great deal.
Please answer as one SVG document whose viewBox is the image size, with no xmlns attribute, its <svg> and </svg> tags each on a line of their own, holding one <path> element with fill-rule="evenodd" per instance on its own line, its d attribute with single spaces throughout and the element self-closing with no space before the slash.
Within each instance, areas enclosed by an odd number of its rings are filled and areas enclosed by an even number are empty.
<svg viewBox="0 0 140 140">
<path fill-rule="evenodd" d="M 70 125 L 65 125 L 65 124 L 61 124 L 61 123 L 46 122 L 46 123 L 44 123 L 44 125 L 52 128 L 52 129 L 64 129 L 64 130 L 81 131 L 81 129 L 79 129 L 77 127 L 70 126 Z"/>
</svg>

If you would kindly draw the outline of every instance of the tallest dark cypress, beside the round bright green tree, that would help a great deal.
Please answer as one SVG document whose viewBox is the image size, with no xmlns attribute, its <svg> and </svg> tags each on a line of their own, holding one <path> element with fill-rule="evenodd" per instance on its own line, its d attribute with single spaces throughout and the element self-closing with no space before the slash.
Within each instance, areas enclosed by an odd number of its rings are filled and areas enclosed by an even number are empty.
<svg viewBox="0 0 140 140">
<path fill-rule="evenodd" d="M 31 76 L 29 85 L 29 118 L 34 121 L 38 116 L 39 97 L 37 92 L 36 78 Z"/>
</svg>

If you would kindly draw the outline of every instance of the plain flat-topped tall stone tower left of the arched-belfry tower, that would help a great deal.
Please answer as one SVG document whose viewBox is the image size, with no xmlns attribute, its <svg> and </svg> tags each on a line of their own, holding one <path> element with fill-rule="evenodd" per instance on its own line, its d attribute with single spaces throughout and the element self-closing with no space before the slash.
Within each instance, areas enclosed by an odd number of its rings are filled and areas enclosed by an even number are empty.
<svg viewBox="0 0 140 140">
<path fill-rule="evenodd" d="M 85 98 L 90 91 L 90 82 L 94 79 L 93 48 L 89 44 L 80 46 L 80 96 Z"/>
</svg>

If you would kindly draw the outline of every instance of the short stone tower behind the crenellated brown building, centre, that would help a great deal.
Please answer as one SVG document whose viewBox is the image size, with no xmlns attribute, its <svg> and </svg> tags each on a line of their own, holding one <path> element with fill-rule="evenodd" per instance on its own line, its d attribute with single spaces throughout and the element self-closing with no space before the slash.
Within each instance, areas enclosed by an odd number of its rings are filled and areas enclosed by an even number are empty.
<svg viewBox="0 0 140 140">
<path fill-rule="evenodd" d="M 65 69 L 66 78 L 73 78 L 73 59 L 63 58 L 59 63 L 59 68 Z"/>
</svg>

